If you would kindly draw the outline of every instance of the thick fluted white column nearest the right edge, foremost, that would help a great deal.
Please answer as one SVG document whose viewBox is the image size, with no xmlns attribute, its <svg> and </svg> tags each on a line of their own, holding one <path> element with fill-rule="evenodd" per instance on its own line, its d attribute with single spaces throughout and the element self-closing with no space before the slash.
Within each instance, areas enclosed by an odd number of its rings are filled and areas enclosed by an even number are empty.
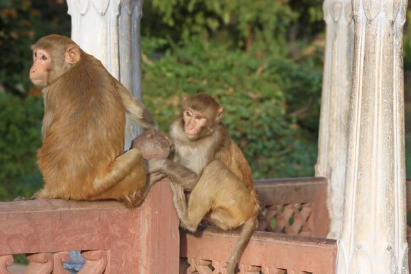
<svg viewBox="0 0 411 274">
<path fill-rule="evenodd" d="M 355 45 L 337 273 L 408 273 L 402 32 L 407 0 L 353 0 Z"/>
</svg>

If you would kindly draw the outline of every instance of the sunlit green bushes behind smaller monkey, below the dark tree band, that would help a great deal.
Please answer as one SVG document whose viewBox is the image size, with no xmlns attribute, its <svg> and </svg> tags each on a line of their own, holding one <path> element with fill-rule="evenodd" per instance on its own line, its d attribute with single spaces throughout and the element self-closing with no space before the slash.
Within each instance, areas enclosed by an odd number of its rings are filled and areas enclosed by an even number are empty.
<svg viewBox="0 0 411 274">
<path fill-rule="evenodd" d="M 322 77 L 312 64 L 200 39 L 150 64 L 143 65 L 144 100 L 166 132 L 181 95 L 207 92 L 225 107 L 223 123 L 254 177 L 313 175 Z M 313 133 L 304 125 L 312 120 Z"/>
</svg>

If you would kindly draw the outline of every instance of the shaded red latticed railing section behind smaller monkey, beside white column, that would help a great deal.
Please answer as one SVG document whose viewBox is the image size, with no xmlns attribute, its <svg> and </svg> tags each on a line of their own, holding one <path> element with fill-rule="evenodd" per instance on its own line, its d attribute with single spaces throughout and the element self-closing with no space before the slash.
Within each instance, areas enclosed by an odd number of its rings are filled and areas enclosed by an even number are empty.
<svg viewBox="0 0 411 274">
<path fill-rule="evenodd" d="M 326 178 L 257 180 L 256 192 L 261 206 L 258 230 L 327 237 Z"/>
</svg>

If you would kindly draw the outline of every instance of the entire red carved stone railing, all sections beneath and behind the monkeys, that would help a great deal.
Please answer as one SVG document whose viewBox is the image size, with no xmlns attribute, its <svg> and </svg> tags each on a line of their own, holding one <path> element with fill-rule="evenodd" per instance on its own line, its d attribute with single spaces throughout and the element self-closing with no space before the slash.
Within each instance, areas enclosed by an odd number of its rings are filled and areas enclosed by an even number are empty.
<svg viewBox="0 0 411 274">
<path fill-rule="evenodd" d="M 321 177 L 257 181 L 259 229 L 266 232 L 253 234 L 240 273 L 335 273 L 336 241 L 323 238 L 326 190 Z M 407 201 L 410 212 L 411 179 Z M 17 253 L 27 253 L 27 273 L 68 273 L 62 262 L 71 250 L 82 250 L 86 259 L 80 273 L 225 273 L 240 231 L 200 227 L 196 234 L 178 233 L 177 225 L 166 183 L 134 210 L 114 201 L 0 203 L 0 274 L 8 273 Z"/>
</svg>

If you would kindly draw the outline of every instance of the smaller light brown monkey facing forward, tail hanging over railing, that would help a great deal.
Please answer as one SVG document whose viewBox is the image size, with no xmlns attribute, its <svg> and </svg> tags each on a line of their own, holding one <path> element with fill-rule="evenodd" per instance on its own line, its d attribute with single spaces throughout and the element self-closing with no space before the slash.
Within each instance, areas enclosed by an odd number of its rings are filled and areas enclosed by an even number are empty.
<svg viewBox="0 0 411 274">
<path fill-rule="evenodd" d="M 175 162 L 148 160 L 148 173 L 170 177 L 177 215 L 188 230 L 195 232 L 204 216 L 224 230 L 244 225 L 227 268 L 234 273 L 256 229 L 259 205 L 249 164 L 220 123 L 223 111 L 210 95 L 184 98 L 170 129 Z M 188 205 L 184 190 L 191 190 Z"/>
</svg>

